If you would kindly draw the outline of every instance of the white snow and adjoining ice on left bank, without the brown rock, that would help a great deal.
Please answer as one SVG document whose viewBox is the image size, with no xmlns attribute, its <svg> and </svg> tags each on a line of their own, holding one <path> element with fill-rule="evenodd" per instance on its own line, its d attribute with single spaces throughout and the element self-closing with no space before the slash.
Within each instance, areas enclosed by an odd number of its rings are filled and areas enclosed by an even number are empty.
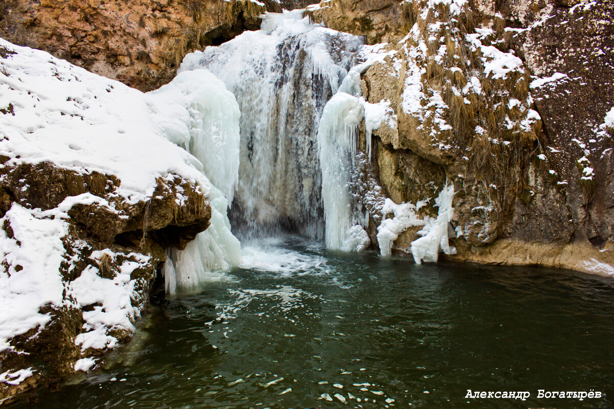
<svg viewBox="0 0 614 409">
<path fill-rule="evenodd" d="M 179 175 L 211 201 L 212 225 L 198 237 L 200 251 L 216 268 L 240 261 L 226 215 L 226 196 L 232 197 L 238 177 L 238 119 L 234 96 L 206 70 L 179 75 L 163 89 L 144 94 L 0 39 L 0 155 L 9 158 L 1 166 L 51 162 L 79 174 L 114 175 L 120 186 L 107 199 L 128 205 L 152 196 L 157 178 Z M 105 198 L 85 193 L 45 211 L 14 203 L 0 219 L 11 227 L 0 229 L 0 257 L 6 260 L 0 266 L 0 351 L 13 349 L 10 338 L 49 324 L 52 316 L 41 312 L 44 306 L 79 310 L 96 305 L 83 312 L 84 332 L 75 339 L 81 350 L 114 348 L 118 340 L 111 330 L 134 331 L 144 297 L 139 294 L 142 278 L 131 273 L 147 266 L 149 256 L 95 251 L 94 265 L 103 256 L 125 260 L 115 277 L 102 277 L 90 265 L 66 281 L 63 263 L 71 270 L 83 257 L 78 242 L 71 243 L 77 254 L 65 248 L 72 240 L 68 210 L 74 204 L 109 207 Z M 76 370 L 92 363 L 84 358 Z M 17 375 L 5 372 L 0 379 L 25 378 Z"/>
</svg>

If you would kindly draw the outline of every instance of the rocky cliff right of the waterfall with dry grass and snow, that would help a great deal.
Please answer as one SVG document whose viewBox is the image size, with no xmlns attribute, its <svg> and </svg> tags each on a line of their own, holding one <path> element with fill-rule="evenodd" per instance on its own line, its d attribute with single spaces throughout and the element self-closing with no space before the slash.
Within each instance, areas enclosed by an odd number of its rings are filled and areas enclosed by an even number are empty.
<svg viewBox="0 0 614 409">
<path fill-rule="evenodd" d="M 610 2 L 331 0 L 308 13 L 391 43 L 362 78 L 398 118 L 375 131 L 373 170 L 397 203 L 454 183 L 450 258 L 614 273 Z"/>
</svg>

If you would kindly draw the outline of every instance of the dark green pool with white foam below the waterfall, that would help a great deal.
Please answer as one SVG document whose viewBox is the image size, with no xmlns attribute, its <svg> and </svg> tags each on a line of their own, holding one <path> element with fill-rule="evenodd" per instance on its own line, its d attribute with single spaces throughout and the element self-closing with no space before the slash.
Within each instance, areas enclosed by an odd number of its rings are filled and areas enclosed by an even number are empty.
<svg viewBox="0 0 614 409">
<path fill-rule="evenodd" d="M 154 305 L 105 369 L 9 408 L 614 407 L 612 281 L 268 245 L 259 270 Z"/>
</svg>

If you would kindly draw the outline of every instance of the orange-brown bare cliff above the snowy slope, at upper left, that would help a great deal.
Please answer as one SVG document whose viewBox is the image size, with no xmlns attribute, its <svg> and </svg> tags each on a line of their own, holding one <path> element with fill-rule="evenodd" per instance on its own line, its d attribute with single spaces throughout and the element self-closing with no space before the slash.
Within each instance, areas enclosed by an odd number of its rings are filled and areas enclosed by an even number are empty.
<svg viewBox="0 0 614 409">
<path fill-rule="evenodd" d="M 219 45 L 258 15 L 309 1 L 269 0 L 7 0 L 0 4 L 0 37 L 38 48 L 141 91 L 168 83 L 185 54 Z"/>
</svg>

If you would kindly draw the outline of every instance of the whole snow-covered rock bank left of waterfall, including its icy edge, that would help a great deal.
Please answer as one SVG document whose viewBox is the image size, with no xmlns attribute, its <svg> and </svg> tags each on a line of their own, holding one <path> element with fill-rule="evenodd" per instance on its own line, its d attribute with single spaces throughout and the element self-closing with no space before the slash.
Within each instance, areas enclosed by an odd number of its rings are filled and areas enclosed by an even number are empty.
<svg viewBox="0 0 614 409">
<path fill-rule="evenodd" d="M 225 199 L 238 116 L 205 70 L 144 94 L 0 39 L 0 400 L 125 342 L 163 248 L 209 224 L 238 248 Z M 190 143 L 221 156 L 197 159 Z M 238 253 L 211 251 L 225 266 Z"/>
</svg>

